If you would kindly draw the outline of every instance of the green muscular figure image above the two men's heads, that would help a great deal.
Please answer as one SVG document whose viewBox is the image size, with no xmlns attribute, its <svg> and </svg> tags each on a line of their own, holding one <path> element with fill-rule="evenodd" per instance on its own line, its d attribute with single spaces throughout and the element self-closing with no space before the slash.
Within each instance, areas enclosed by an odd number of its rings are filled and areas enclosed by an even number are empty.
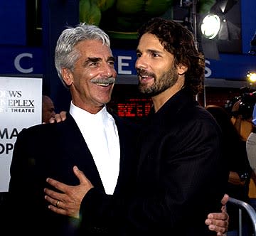
<svg viewBox="0 0 256 236">
<path fill-rule="evenodd" d="M 129 38 L 144 22 L 163 16 L 179 3 L 176 0 L 80 0 L 80 21 L 100 26 L 110 35 L 117 32 Z M 213 4 L 215 0 L 198 1 L 198 13 L 207 13 Z"/>
</svg>

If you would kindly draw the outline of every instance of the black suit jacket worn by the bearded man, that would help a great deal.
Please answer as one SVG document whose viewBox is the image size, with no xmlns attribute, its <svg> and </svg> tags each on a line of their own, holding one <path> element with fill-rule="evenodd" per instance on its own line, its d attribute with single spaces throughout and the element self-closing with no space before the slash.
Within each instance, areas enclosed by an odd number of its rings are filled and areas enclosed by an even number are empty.
<svg viewBox="0 0 256 236">
<path fill-rule="evenodd" d="M 82 200 L 82 225 L 114 222 L 119 235 L 216 235 L 204 222 L 220 212 L 228 168 L 210 113 L 183 89 L 150 115 L 139 143 L 137 187 L 127 198 L 112 199 L 90 190 Z"/>
</svg>

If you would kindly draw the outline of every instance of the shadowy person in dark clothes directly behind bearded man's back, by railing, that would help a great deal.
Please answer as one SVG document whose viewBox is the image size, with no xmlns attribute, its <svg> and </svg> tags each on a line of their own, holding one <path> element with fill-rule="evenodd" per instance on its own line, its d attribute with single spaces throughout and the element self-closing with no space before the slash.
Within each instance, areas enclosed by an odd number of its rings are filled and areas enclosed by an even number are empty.
<svg viewBox="0 0 256 236">
<path fill-rule="evenodd" d="M 229 178 L 226 193 L 232 198 L 249 203 L 249 183 L 252 168 L 247 158 L 245 141 L 238 133 L 230 114 L 223 107 L 208 105 L 206 110 L 216 119 L 223 134 L 223 155 L 228 159 Z M 238 235 L 238 208 L 227 203 L 228 215 L 230 216 L 228 236 Z M 247 218 L 243 218 L 243 235 L 247 235 Z"/>
</svg>

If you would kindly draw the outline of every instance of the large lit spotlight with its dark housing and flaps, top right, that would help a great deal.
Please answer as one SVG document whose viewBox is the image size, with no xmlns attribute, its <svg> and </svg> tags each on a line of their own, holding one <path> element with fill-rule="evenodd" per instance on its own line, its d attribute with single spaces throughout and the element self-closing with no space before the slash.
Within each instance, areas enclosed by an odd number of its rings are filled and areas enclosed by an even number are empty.
<svg viewBox="0 0 256 236">
<path fill-rule="evenodd" d="M 219 60 L 219 50 L 222 53 L 240 52 L 241 35 L 238 17 L 240 17 L 238 0 L 216 0 L 208 14 L 201 14 L 198 21 L 198 32 L 200 32 L 198 42 L 206 58 Z"/>
</svg>

